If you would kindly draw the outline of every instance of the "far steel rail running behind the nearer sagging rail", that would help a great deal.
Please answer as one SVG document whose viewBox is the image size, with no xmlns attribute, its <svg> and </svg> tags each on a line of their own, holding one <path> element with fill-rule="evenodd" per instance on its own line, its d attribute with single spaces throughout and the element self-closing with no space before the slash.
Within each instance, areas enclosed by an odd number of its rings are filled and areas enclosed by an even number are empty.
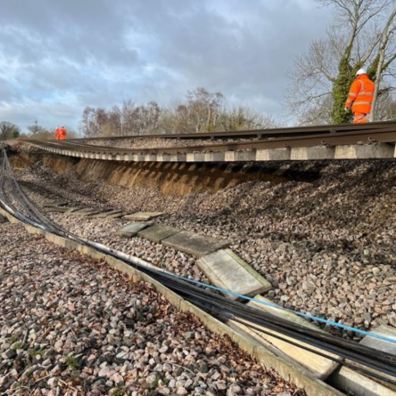
<svg viewBox="0 0 396 396">
<path fill-rule="evenodd" d="M 148 135 L 118 135 L 118 136 L 96 136 L 68 139 L 68 141 L 95 141 L 95 140 L 124 140 L 124 139 L 241 139 L 241 138 L 262 138 L 277 136 L 308 135 L 313 133 L 334 134 L 339 132 L 355 130 L 372 130 L 396 127 L 396 121 L 380 121 L 368 124 L 338 124 L 338 125 L 314 125 L 305 127 L 285 127 L 285 128 L 266 128 L 266 129 L 246 129 L 240 131 L 217 131 L 217 132 L 184 132 L 184 133 L 153 133 Z"/>
</svg>

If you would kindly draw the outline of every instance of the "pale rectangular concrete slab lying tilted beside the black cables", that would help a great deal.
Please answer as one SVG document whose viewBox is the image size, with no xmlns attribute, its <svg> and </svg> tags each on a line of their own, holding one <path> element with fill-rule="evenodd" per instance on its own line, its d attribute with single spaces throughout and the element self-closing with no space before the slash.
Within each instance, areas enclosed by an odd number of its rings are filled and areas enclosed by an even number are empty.
<svg viewBox="0 0 396 396">
<path fill-rule="evenodd" d="M 271 288 L 271 284 L 231 249 L 222 249 L 201 257 L 198 266 L 210 281 L 236 294 L 253 296 Z M 225 295 L 237 299 L 237 295 Z"/>
</svg>

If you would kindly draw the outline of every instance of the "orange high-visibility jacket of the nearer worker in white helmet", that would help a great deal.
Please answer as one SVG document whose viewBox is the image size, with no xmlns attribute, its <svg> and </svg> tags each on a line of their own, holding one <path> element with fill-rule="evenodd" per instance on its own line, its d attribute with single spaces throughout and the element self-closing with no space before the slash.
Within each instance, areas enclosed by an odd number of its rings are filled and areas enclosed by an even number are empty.
<svg viewBox="0 0 396 396">
<path fill-rule="evenodd" d="M 374 100 L 374 90 L 375 84 L 367 74 L 357 76 L 349 90 L 345 108 L 350 109 L 352 106 L 352 113 L 370 113 Z"/>
</svg>

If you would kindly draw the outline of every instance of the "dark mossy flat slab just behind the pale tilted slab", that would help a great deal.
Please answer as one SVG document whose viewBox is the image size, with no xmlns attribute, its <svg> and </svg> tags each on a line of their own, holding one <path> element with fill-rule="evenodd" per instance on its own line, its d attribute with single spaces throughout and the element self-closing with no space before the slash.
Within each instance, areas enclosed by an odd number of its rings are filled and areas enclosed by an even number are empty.
<svg viewBox="0 0 396 396">
<path fill-rule="evenodd" d="M 218 240 L 188 231 L 181 231 L 162 241 L 166 246 L 201 257 L 230 244 L 228 241 Z"/>
</svg>

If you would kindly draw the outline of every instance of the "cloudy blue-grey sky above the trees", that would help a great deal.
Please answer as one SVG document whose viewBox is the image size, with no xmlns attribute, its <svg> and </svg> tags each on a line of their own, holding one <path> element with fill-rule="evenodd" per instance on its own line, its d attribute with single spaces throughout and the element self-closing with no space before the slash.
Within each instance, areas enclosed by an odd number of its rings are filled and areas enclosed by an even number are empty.
<svg viewBox="0 0 396 396">
<path fill-rule="evenodd" d="M 77 128 L 87 105 L 198 86 L 287 121 L 294 60 L 330 21 L 314 0 L 0 0 L 0 121 Z"/>
</svg>

